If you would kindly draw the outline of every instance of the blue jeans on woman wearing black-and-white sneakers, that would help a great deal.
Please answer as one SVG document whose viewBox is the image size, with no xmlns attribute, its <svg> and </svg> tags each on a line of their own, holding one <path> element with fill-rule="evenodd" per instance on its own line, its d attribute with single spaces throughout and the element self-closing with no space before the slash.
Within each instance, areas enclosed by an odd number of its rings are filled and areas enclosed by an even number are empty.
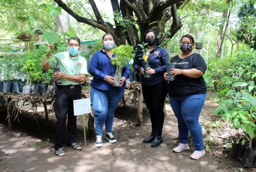
<svg viewBox="0 0 256 172">
<path fill-rule="evenodd" d="M 114 113 L 123 95 L 124 89 L 111 91 L 91 87 L 91 99 L 97 135 L 102 136 L 104 123 L 106 132 L 112 132 Z"/>
</svg>

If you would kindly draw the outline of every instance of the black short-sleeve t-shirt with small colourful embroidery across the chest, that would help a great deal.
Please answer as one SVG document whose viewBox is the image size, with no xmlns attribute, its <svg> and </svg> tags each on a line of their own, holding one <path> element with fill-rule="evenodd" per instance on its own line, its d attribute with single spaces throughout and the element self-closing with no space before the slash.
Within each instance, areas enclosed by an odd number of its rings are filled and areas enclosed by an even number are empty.
<svg viewBox="0 0 256 172">
<path fill-rule="evenodd" d="M 197 53 L 193 53 L 190 56 L 181 59 L 179 56 L 174 56 L 175 68 L 177 69 L 198 69 L 205 73 L 206 63 L 202 56 Z M 190 78 L 185 75 L 176 75 L 174 81 L 169 82 L 169 96 L 171 97 L 182 97 L 192 94 L 203 94 L 206 93 L 206 84 L 203 76 L 199 78 Z"/>
</svg>

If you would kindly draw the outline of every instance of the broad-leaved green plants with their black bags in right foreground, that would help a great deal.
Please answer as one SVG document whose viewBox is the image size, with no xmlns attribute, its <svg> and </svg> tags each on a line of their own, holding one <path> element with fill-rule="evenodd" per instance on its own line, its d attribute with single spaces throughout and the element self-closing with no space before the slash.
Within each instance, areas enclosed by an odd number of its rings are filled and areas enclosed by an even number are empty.
<svg viewBox="0 0 256 172">
<path fill-rule="evenodd" d="M 231 157 L 241 161 L 244 167 L 252 168 L 256 167 L 256 73 L 248 72 L 245 76 L 251 78 L 249 83 L 238 82 L 233 84 L 231 89 L 220 91 L 220 94 L 225 94 L 227 100 L 221 102 L 214 113 L 233 123 L 231 129 L 242 129 L 245 133 L 244 139 L 249 138 L 247 142 L 239 142 L 239 138 L 232 144 Z"/>
</svg>

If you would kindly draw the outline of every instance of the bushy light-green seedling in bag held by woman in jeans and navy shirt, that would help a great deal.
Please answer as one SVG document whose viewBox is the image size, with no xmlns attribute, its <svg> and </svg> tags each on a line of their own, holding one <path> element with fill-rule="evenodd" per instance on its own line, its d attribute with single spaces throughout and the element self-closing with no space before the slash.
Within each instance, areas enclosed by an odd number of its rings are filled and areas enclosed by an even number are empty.
<svg viewBox="0 0 256 172">
<path fill-rule="evenodd" d="M 130 45 L 120 45 L 111 51 L 111 53 L 116 54 L 116 57 L 111 58 L 111 64 L 116 65 L 113 86 L 120 87 L 119 79 L 122 76 L 124 66 L 128 63 L 127 60 L 131 57 L 132 51 L 133 47 Z"/>
</svg>

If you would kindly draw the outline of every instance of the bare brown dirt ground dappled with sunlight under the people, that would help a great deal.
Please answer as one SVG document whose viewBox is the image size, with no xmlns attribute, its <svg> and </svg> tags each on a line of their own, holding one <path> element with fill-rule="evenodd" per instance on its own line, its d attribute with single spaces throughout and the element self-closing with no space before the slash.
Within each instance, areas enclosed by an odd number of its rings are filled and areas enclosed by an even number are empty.
<svg viewBox="0 0 256 172">
<path fill-rule="evenodd" d="M 214 136 L 218 137 L 217 130 L 214 134 L 210 133 L 210 129 L 207 128 L 219 119 L 218 115 L 213 114 L 217 104 L 209 100 L 211 96 L 212 93 L 209 92 L 200 116 L 205 140 L 206 138 L 214 140 Z M 168 102 L 166 103 L 167 114 L 163 128 L 163 144 L 151 148 L 150 143 L 142 143 L 143 138 L 148 137 L 151 132 L 150 118 L 144 114 L 142 126 L 136 126 L 136 98 L 132 99 L 131 95 L 127 97 L 127 107 L 124 108 L 120 104 L 114 117 L 113 134 L 117 138 L 117 143 L 111 144 L 103 139 L 103 147 L 96 148 L 94 145 L 95 138 L 87 138 L 87 146 L 84 146 L 82 116 L 78 116 L 77 137 L 78 143 L 83 145 L 83 149 L 76 151 L 64 146 L 63 149 L 66 151 L 64 157 L 56 156 L 52 147 L 55 138 L 56 119 L 54 113 L 50 113 L 49 121 L 45 122 L 43 106 L 38 107 L 37 113 L 41 114 L 41 117 L 36 119 L 30 106 L 25 106 L 22 109 L 23 113 L 12 122 L 12 131 L 8 130 L 8 122 L 5 120 L 6 114 L 0 114 L 0 171 L 221 172 L 243 169 L 242 164 L 231 159 L 227 156 L 228 154 L 222 154 L 222 151 L 216 153 L 219 148 L 225 149 L 225 146 L 222 146 L 225 143 L 222 142 L 219 147 L 214 147 L 214 144 L 210 145 L 210 150 L 199 160 L 189 158 L 194 149 L 191 139 L 190 149 L 174 153 L 172 149 L 178 145 L 178 126 L 177 119 Z M 48 109 L 51 108 L 52 106 L 48 105 Z M 86 124 L 87 121 L 88 116 L 86 117 Z M 229 130 L 227 127 L 222 128 Z M 243 170 L 252 171 L 254 169 Z"/>
</svg>

